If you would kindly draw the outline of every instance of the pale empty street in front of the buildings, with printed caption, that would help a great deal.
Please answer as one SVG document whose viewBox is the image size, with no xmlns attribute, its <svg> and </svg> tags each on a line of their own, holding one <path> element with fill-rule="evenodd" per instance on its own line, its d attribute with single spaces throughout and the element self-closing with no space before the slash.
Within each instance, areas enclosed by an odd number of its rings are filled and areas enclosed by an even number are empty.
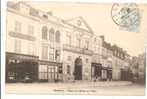
<svg viewBox="0 0 147 99">
<path fill-rule="evenodd" d="M 74 83 L 11 83 L 6 84 L 6 93 L 140 96 L 145 94 L 145 86 L 121 81 Z"/>
</svg>

